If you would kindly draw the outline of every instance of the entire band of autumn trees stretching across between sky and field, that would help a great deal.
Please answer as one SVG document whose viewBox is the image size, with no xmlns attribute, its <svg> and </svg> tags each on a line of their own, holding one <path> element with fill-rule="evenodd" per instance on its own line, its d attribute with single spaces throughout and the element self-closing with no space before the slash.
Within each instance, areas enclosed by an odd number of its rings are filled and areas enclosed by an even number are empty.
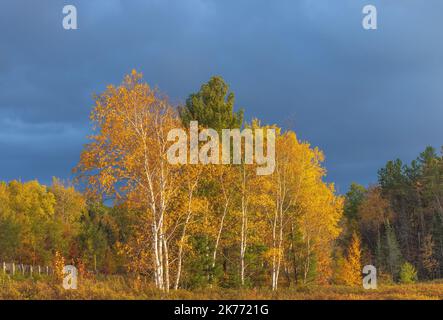
<svg viewBox="0 0 443 320">
<path fill-rule="evenodd" d="M 409 164 L 387 161 L 376 184 L 341 195 L 325 182 L 321 150 L 245 119 L 219 76 L 173 105 L 134 70 L 94 100 L 74 179 L 0 183 L 0 262 L 69 263 L 80 289 L 101 279 L 162 294 L 363 290 L 365 265 L 377 268 L 381 287 L 443 277 L 443 157 L 434 148 Z M 244 161 L 169 163 L 168 132 L 187 132 L 190 121 L 218 133 L 275 129 L 274 172 L 257 175 Z"/>
</svg>

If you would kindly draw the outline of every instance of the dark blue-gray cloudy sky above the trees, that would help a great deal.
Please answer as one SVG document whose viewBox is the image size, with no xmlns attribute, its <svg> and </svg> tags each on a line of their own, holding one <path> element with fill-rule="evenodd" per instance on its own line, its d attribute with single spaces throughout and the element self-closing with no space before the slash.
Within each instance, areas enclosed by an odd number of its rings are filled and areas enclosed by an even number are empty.
<svg viewBox="0 0 443 320">
<path fill-rule="evenodd" d="M 62 28 L 62 8 L 78 30 Z M 362 8 L 376 5 L 376 31 Z M 0 180 L 71 177 L 92 94 L 135 68 L 178 103 L 221 75 L 246 117 L 326 154 L 328 181 L 443 145 L 441 0 L 3 0 Z"/>
</svg>

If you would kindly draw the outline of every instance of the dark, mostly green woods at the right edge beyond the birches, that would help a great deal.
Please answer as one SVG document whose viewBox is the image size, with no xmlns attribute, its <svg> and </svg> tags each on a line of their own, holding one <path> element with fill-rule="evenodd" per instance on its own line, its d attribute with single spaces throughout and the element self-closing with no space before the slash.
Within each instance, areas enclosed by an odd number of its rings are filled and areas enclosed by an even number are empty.
<svg viewBox="0 0 443 320">
<path fill-rule="evenodd" d="M 340 241 L 349 245 L 351 234 L 357 233 L 363 261 L 392 281 L 441 278 L 442 201 L 443 157 L 433 147 L 410 164 L 388 161 L 378 171 L 376 185 L 351 185 Z"/>
</svg>

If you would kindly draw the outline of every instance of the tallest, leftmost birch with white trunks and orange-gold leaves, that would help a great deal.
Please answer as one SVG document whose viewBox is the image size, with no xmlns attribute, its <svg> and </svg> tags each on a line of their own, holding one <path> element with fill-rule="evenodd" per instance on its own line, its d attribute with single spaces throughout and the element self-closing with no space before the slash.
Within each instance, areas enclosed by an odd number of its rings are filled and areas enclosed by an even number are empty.
<svg viewBox="0 0 443 320">
<path fill-rule="evenodd" d="M 167 134 L 181 126 L 174 109 L 135 70 L 118 86 L 96 97 L 91 113 L 95 134 L 76 171 L 95 193 L 116 201 L 137 194 L 134 205 L 146 212 L 155 285 L 168 290 L 169 250 L 165 228 L 179 170 L 166 153 Z"/>
</svg>

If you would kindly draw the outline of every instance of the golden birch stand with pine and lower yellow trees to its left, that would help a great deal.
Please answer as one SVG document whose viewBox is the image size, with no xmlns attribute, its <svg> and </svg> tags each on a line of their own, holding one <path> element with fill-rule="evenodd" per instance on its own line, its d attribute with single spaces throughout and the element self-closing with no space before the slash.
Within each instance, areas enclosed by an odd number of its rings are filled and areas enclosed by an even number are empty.
<svg viewBox="0 0 443 320">
<path fill-rule="evenodd" d="M 108 86 L 74 170 L 81 192 L 57 179 L 0 185 L 0 258 L 48 264 L 62 255 L 166 291 L 328 281 L 343 199 L 323 182 L 323 153 L 292 131 L 246 123 L 234 101 L 220 77 L 179 107 L 136 71 Z M 218 132 L 275 129 L 274 173 L 244 161 L 170 164 L 168 131 L 191 120 Z"/>
</svg>

